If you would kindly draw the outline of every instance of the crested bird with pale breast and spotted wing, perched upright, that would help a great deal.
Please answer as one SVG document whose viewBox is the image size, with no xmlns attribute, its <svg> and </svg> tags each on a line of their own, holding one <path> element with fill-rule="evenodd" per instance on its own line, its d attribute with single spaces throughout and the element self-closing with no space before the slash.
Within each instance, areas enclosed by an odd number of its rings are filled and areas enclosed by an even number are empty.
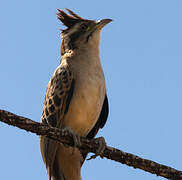
<svg viewBox="0 0 182 180">
<path fill-rule="evenodd" d="M 80 136 L 93 139 L 108 118 L 99 46 L 101 30 L 112 19 L 89 20 L 66 10 L 57 12 L 66 29 L 61 31 L 61 61 L 47 86 L 41 123 L 69 130 L 76 143 Z M 40 136 L 40 149 L 49 180 L 82 179 L 87 153 L 45 136 Z"/>
</svg>

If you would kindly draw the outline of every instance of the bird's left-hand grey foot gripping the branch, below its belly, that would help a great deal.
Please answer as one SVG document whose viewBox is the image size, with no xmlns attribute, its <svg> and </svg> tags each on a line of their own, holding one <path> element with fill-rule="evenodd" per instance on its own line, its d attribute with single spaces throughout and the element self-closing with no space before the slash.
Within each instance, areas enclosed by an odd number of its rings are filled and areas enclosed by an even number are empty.
<svg viewBox="0 0 182 180">
<path fill-rule="evenodd" d="M 75 148 L 81 146 L 80 136 L 71 127 L 65 127 L 63 130 L 68 131 L 73 137 L 73 143 L 74 143 L 73 151 L 72 151 L 72 155 L 73 155 L 75 152 Z"/>
</svg>

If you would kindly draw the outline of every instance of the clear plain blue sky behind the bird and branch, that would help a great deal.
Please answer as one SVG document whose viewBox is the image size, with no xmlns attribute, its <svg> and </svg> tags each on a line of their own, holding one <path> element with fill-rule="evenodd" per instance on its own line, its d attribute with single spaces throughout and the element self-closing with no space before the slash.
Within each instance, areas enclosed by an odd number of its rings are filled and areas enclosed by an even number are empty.
<svg viewBox="0 0 182 180">
<path fill-rule="evenodd" d="M 110 115 L 99 135 L 108 145 L 182 169 L 182 1 L 2 1 L 0 109 L 39 121 L 47 83 L 60 60 L 56 9 L 104 28 L 101 59 Z M 39 138 L 0 123 L 1 179 L 47 179 Z M 85 162 L 82 178 L 163 178 L 114 161 Z"/>
</svg>

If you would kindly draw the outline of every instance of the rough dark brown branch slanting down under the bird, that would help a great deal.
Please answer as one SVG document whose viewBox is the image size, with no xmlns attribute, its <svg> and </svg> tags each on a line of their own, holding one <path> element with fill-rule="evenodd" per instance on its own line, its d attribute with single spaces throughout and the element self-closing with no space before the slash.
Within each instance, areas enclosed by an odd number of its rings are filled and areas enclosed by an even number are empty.
<svg viewBox="0 0 182 180">
<path fill-rule="evenodd" d="M 49 137 L 65 145 L 74 145 L 72 135 L 68 131 L 49 127 L 5 110 L 0 110 L 0 121 L 37 135 Z M 82 151 L 96 153 L 98 147 L 99 144 L 94 139 L 88 140 L 81 137 L 81 146 L 78 148 Z M 157 176 L 172 180 L 182 180 L 182 171 L 158 164 L 151 160 L 143 159 L 139 156 L 123 152 L 113 147 L 107 146 L 104 150 L 103 156 L 116 162 L 156 174 Z"/>
</svg>

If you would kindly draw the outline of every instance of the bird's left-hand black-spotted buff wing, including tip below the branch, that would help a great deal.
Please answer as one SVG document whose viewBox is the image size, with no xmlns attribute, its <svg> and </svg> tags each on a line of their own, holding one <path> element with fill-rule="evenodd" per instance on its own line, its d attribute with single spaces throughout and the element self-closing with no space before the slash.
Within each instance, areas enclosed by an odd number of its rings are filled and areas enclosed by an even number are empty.
<svg viewBox="0 0 182 180">
<path fill-rule="evenodd" d="M 53 74 L 45 96 L 41 122 L 61 128 L 64 115 L 67 113 L 73 95 L 74 80 L 68 67 L 59 66 Z M 40 138 L 41 153 L 46 164 L 49 179 L 54 174 L 53 164 L 58 143 L 51 139 Z"/>
</svg>

